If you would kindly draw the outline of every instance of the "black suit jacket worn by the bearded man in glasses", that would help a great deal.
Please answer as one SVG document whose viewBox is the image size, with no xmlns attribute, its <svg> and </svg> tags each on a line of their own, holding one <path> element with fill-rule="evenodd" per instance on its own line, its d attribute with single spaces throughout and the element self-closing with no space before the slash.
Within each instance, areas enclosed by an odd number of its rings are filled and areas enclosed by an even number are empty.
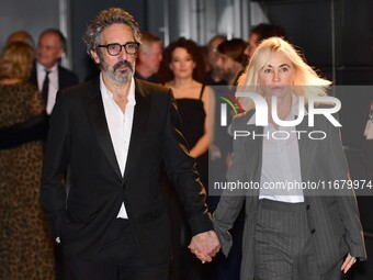
<svg viewBox="0 0 373 280">
<path fill-rule="evenodd" d="M 99 79 L 57 94 L 46 143 L 42 203 L 67 255 L 93 257 L 124 201 L 145 260 L 168 261 L 170 222 L 159 182 L 162 160 L 193 234 L 213 228 L 171 90 L 137 79 L 135 85 L 124 176 L 108 128 Z M 64 175 L 68 167 L 71 179 L 66 197 Z"/>
</svg>

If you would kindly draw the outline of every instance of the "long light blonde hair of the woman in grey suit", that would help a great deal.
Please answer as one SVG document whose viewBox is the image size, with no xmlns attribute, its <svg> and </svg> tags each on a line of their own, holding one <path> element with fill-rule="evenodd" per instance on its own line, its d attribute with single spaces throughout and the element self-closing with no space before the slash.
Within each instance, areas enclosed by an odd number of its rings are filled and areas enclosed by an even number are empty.
<svg viewBox="0 0 373 280">
<path fill-rule="evenodd" d="M 240 76 L 238 86 L 245 87 L 246 90 L 247 87 L 250 87 L 255 92 L 263 94 L 263 91 L 260 90 L 259 72 L 268 64 L 271 56 L 278 52 L 282 52 L 294 66 L 294 82 L 289 86 L 294 86 L 295 94 L 304 97 L 327 96 L 327 88 L 331 82 L 320 78 L 316 71 L 306 64 L 302 54 L 281 37 L 270 37 L 260 43 L 250 58 L 249 65 Z M 251 99 L 240 98 L 239 101 L 246 111 L 253 108 Z"/>
</svg>

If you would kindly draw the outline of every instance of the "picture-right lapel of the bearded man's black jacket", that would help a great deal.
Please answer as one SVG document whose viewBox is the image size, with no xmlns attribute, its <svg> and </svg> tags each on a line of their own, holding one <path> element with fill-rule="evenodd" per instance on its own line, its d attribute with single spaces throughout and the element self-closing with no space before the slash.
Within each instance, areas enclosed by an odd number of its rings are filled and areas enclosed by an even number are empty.
<svg viewBox="0 0 373 280">
<path fill-rule="evenodd" d="M 143 160 L 142 158 L 142 143 L 145 139 L 145 128 L 148 122 L 150 112 L 150 98 L 144 83 L 140 80 L 135 79 L 135 112 L 134 122 L 132 125 L 131 141 L 128 147 L 127 161 L 124 169 L 124 178 L 126 179 L 131 175 L 132 168 L 136 160 Z"/>
</svg>

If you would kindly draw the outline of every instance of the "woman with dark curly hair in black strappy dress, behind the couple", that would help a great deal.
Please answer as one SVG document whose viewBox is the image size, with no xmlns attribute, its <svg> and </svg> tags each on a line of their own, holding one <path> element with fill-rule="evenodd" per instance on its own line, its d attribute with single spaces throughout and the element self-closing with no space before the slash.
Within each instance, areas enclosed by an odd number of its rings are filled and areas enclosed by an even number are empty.
<svg viewBox="0 0 373 280">
<path fill-rule="evenodd" d="M 203 82 L 204 65 L 196 43 L 183 37 L 171 43 L 165 51 L 163 68 L 162 81 L 172 89 L 190 154 L 196 158 L 201 180 L 207 186 L 208 131 L 215 99 Z"/>
</svg>

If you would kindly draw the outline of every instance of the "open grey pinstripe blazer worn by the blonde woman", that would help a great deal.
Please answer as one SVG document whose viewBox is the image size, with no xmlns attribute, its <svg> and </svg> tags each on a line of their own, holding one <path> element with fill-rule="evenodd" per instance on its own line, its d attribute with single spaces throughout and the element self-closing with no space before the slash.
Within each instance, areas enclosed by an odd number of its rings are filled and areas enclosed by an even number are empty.
<svg viewBox="0 0 373 280">
<path fill-rule="evenodd" d="M 248 125 L 255 112 L 236 117 L 233 131 L 263 133 L 263 126 Z M 349 179 L 348 166 L 341 146 L 340 133 L 326 117 L 315 116 L 315 126 L 308 127 L 307 117 L 296 126 L 297 131 L 324 131 L 323 141 L 309 139 L 302 134 L 298 139 L 302 180 L 318 182 Z M 319 135 L 318 135 L 319 136 Z M 233 165 L 227 172 L 228 182 L 260 182 L 262 165 L 262 137 L 237 137 L 234 141 Z M 234 195 L 238 194 L 238 195 Z M 242 237 L 241 280 L 252 280 L 255 269 L 253 236 L 259 205 L 259 190 L 229 192 L 225 191 L 213 214 L 215 231 L 219 237 L 223 253 L 227 256 L 231 246 L 229 229 L 246 201 L 245 228 Z M 309 228 L 316 250 L 315 261 L 320 271 L 328 271 L 347 253 L 363 260 L 366 258 L 363 231 L 360 223 L 358 204 L 353 190 L 343 193 L 317 195 L 304 190 L 308 209 Z"/>
</svg>

